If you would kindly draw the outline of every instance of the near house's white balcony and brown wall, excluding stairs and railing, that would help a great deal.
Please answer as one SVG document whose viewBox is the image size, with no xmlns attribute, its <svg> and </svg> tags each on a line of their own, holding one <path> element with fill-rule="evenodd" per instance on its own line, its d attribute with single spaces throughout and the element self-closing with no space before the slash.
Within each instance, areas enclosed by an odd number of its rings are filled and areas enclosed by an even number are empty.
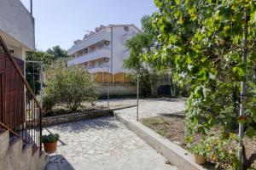
<svg viewBox="0 0 256 170">
<path fill-rule="evenodd" d="M 15 128 L 17 121 L 22 122 L 22 114 L 25 113 L 21 105 L 25 102 L 24 82 L 2 43 L 24 73 L 26 51 L 35 48 L 34 18 L 20 0 L 1 0 L 0 23 L 0 122 Z"/>
</svg>

